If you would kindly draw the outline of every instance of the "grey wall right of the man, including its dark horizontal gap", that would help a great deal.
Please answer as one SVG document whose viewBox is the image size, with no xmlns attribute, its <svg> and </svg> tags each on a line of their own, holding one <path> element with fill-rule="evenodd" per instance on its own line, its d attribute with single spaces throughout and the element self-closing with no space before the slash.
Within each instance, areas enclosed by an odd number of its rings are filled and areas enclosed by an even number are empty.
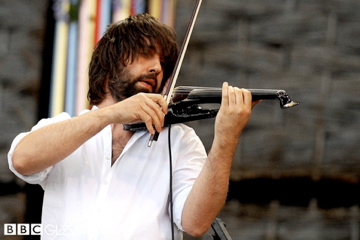
<svg viewBox="0 0 360 240">
<path fill-rule="evenodd" d="M 178 2 L 179 38 L 193 4 Z M 351 0 L 203 1 L 178 85 L 228 81 L 301 102 L 253 110 L 220 214 L 234 239 L 359 239 L 359 10 Z M 190 124 L 208 149 L 213 123 Z"/>
</svg>

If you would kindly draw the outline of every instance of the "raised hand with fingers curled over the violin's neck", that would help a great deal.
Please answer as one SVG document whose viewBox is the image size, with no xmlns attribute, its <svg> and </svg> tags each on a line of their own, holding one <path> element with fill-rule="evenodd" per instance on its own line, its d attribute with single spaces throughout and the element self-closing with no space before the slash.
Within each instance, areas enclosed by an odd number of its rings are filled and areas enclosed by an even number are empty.
<svg viewBox="0 0 360 240">
<path fill-rule="evenodd" d="M 238 142 L 250 118 L 251 109 L 258 102 L 252 102 L 252 95 L 248 90 L 223 83 L 221 106 L 215 121 L 215 136 L 220 137 L 220 142 Z"/>
</svg>

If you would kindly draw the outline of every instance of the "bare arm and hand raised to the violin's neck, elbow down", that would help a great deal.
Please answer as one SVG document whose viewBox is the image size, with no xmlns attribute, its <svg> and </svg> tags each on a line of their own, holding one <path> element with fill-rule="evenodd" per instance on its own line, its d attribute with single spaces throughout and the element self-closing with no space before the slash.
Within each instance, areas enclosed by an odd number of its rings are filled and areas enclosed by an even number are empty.
<svg viewBox="0 0 360 240">
<path fill-rule="evenodd" d="M 222 209 L 229 185 L 232 159 L 240 134 L 249 120 L 249 91 L 223 84 L 222 103 L 208 159 L 190 191 L 182 212 L 182 227 L 192 236 L 203 235 Z"/>
</svg>

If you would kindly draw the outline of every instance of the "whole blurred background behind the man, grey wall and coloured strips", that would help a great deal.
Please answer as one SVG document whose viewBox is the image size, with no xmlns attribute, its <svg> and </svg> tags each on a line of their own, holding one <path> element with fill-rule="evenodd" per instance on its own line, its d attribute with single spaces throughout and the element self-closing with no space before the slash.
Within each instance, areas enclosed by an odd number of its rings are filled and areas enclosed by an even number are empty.
<svg viewBox="0 0 360 240">
<path fill-rule="evenodd" d="M 7 152 L 39 119 L 86 107 L 86 54 L 103 32 L 93 30 L 100 20 L 91 4 L 101 2 L 0 0 L 0 239 L 36 239 L 3 235 L 4 223 L 40 222 L 42 201 L 38 186 L 8 170 Z M 129 15 L 129 1 L 109 2 L 109 21 Z M 194 0 L 133 2 L 182 43 Z M 300 102 L 253 110 L 218 216 L 233 239 L 360 239 L 359 38 L 357 0 L 203 1 L 177 85 L 228 81 L 284 89 Z M 214 120 L 189 125 L 209 150 Z"/>
</svg>

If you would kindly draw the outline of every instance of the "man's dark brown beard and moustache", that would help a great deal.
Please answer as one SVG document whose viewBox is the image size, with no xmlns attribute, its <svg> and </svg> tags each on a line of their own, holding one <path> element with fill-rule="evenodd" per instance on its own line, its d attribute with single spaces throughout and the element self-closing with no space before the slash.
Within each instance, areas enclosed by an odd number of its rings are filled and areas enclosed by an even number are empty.
<svg viewBox="0 0 360 240">
<path fill-rule="evenodd" d="M 154 79 L 157 84 L 157 74 L 143 74 L 137 77 L 130 76 L 128 73 L 120 74 L 120 76 L 109 80 L 108 88 L 110 94 L 115 101 L 119 102 L 140 92 L 150 93 L 149 89 L 136 85 L 144 79 Z M 157 89 L 157 86 L 153 87 L 153 91 L 155 89 Z"/>
</svg>

